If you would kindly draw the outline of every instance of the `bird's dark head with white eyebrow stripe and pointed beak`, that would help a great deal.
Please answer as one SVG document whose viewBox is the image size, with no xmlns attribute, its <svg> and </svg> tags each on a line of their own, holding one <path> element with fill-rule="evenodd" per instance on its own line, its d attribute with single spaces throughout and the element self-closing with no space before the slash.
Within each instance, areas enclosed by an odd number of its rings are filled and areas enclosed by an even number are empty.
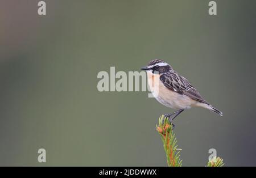
<svg viewBox="0 0 256 178">
<path fill-rule="evenodd" d="M 173 70 L 172 67 L 164 62 L 163 60 L 152 60 L 148 63 L 146 67 L 142 67 L 141 70 L 146 70 L 147 73 L 158 73 L 158 74 L 164 74 L 168 73 L 168 71 Z"/>
</svg>

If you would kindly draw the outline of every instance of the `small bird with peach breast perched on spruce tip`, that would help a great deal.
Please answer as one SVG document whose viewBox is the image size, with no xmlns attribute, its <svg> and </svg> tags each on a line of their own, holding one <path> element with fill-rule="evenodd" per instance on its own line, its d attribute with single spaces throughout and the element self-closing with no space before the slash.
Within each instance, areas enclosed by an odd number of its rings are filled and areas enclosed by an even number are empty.
<svg viewBox="0 0 256 178">
<path fill-rule="evenodd" d="M 177 74 L 172 67 L 163 60 L 152 60 L 148 66 L 142 67 L 142 70 L 147 71 L 148 84 L 151 91 L 152 86 L 156 81 L 159 81 L 158 94 L 152 93 L 153 96 L 161 104 L 168 108 L 179 109 L 174 113 L 166 114 L 170 122 L 174 120 L 184 109 L 191 107 L 203 107 L 222 116 L 222 112 L 213 108 L 205 99 L 199 94 L 195 87 L 193 87 L 187 79 Z"/>
</svg>

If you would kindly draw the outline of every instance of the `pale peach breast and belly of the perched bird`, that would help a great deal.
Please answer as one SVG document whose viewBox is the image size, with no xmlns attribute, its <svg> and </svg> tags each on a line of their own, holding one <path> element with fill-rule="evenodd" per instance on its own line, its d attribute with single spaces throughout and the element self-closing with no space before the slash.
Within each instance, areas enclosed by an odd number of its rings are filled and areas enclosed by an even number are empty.
<svg viewBox="0 0 256 178">
<path fill-rule="evenodd" d="M 159 103 L 165 105 L 168 108 L 173 109 L 188 109 L 192 105 L 195 105 L 197 101 L 189 98 L 186 95 L 178 94 L 164 86 L 164 84 L 159 79 L 158 74 L 147 73 L 148 84 L 150 90 L 154 91 L 154 84 L 159 81 L 158 92 L 152 92 L 152 95 L 159 101 Z M 158 77 L 158 79 L 156 79 Z"/>
</svg>

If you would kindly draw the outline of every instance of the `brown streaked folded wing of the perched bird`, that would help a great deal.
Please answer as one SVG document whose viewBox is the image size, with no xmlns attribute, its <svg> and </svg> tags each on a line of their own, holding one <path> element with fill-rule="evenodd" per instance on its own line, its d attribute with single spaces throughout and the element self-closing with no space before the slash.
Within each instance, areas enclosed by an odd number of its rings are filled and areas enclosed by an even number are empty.
<svg viewBox="0 0 256 178">
<path fill-rule="evenodd" d="M 175 91 L 179 94 L 187 95 L 193 100 L 200 101 L 205 104 L 209 104 L 205 99 L 196 91 L 187 79 L 178 75 L 176 72 L 171 72 L 167 74 L 162 74 L 160 80 L 163 82 L 164 86 L 168 89 Z"/>
</svg>

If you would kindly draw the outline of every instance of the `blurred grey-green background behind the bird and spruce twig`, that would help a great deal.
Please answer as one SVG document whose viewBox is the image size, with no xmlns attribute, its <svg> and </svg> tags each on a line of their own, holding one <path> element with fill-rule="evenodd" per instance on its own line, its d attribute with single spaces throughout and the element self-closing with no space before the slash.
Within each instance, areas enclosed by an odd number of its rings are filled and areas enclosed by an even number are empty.
<svg viewBox="0 0 256 178">
<path fill-rule="evenodd" d="M 175 120 L 183 166 L 256 166 L 255 5 L 209 1 L 0 0 L 0 166 L 166 166 L 148 92 L 99 92 L 99 71 L 162 58 L 223 117 Z M 38 163 L 38 149 L 47 163 Z"/>
</svg>

